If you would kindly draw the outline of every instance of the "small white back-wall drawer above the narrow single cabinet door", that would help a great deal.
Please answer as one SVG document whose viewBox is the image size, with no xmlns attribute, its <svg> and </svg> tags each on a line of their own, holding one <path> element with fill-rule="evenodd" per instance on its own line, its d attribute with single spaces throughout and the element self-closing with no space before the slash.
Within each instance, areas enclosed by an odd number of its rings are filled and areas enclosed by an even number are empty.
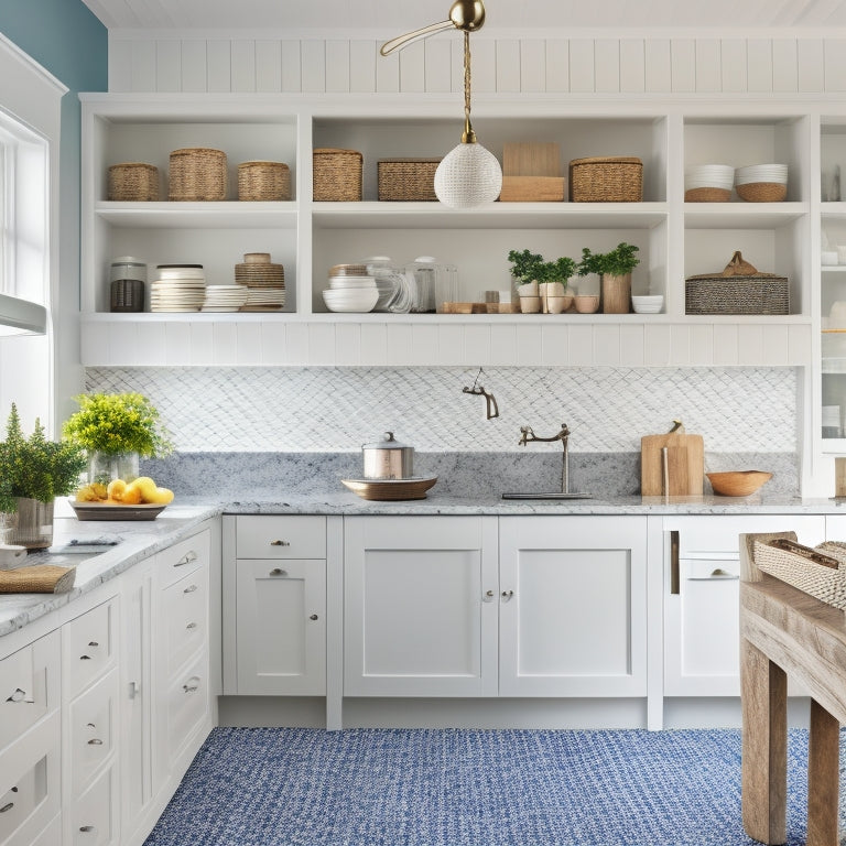
<svg viewBox="0 0 846 846">
<path fill-rule="evenodd" d="M 239 517 L 239 558 L 325 558 L 324 517 Z"/>
</svg>

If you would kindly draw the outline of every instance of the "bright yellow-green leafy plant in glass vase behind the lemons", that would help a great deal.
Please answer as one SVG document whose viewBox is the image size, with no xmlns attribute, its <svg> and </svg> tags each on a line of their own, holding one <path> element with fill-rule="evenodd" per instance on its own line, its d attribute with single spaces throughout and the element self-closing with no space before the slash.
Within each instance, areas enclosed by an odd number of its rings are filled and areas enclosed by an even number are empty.
<svg viewBox="0 0 846 846">
<path fill-rule="evenodd" d="M 89 482 L 127 481 L 138 476 L 138 459 L 173 452 L 159 412 L 140 393 L 84 393 L 79 411 L 63 426 L 64 436 L 88 453 Z"/>
</svg>

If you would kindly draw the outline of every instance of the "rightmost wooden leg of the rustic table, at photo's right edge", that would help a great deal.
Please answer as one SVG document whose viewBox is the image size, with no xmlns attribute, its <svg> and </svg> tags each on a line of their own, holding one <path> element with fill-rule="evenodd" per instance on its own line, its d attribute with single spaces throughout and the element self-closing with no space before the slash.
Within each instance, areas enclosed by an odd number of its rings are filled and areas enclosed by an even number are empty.
<svg viewBox="0 0 846 846">
<path fill-rule="evenodd" d="M 807 748 L 807 846 L 837 846 L 840 724 L 811 699 Z"/>
</svg>

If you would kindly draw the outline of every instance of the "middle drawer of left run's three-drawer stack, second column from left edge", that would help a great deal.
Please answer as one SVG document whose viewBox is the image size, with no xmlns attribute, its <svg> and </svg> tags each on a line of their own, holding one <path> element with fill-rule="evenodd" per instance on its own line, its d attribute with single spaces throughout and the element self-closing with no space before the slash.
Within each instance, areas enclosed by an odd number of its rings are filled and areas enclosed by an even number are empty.
<svg viewBox="0 0 846 846">
<path fill-rule="evenodd" d="M 118 671 L 112 670 L 70 705 L 70 793 L 76 798 L 115 748 Z"/>
</svg>

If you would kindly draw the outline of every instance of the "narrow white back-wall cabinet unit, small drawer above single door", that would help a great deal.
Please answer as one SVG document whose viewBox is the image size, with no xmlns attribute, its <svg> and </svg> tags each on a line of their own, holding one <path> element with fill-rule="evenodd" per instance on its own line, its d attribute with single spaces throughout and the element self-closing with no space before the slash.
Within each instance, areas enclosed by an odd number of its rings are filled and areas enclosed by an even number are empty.
<svg viewBox="0 0 846 846">
<path fill-rule="evenodd" d="M 326 518 L 227 522 L 224 692 L 326 695 Z"/>
</svg>

